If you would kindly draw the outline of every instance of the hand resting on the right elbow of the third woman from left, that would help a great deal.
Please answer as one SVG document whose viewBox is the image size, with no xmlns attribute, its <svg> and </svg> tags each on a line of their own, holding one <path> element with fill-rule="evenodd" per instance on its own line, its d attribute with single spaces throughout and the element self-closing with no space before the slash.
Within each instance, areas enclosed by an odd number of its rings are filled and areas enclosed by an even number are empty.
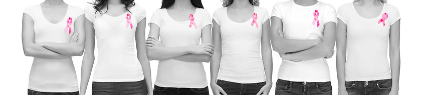
<svg viewBox="0 0 421 95">
<path fill-rule="evenodd" d="M 214 45 L 210 43 L 204 43 L 204 44 L 190 46 L 188 50 L 190 53 L 193 53 L 193 54 L 207 54 L 209 56 L 212 56 L 212 54 L 214 54 Z"/>
</svg>

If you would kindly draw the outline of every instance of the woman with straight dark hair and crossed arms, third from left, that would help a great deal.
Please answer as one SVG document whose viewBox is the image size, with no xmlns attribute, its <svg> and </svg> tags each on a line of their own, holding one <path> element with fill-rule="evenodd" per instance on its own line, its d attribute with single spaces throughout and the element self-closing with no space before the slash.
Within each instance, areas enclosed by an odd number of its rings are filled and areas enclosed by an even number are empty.
<svg viewBox="0 0 421 95">
<path fill-rule="evenodd" d="M 148 25 L 147 56 L 159 60 L 153 93 L 209 94 L 202 62 L 214 52 L 212 22 L 201 0 L 162 0 Z"/>
</svg>

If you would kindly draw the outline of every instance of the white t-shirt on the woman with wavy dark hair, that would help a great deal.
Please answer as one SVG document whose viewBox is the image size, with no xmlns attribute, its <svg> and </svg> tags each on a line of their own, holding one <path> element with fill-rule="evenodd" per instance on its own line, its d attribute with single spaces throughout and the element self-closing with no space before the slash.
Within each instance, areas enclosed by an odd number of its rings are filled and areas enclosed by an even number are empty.
<svg viewBox="0 0 421 95">
<path fill-rule="evenodd" d="M 130 12 L 118 16 L 100 14 L 93 5 L 85 7 L 86 18 L 94 24 L 98 42 L 98 63 L 95 67 L 93 81 L 122 82 L 143 80 L 142 66 L 135 52 L 134 38 L 137 23 L 146 17 L 143 6 L 136 4 Z M 105 12 L 105 11 L 103 11 Z M 130 14 L 128 24 L 126 16 Z"/>
</svg>

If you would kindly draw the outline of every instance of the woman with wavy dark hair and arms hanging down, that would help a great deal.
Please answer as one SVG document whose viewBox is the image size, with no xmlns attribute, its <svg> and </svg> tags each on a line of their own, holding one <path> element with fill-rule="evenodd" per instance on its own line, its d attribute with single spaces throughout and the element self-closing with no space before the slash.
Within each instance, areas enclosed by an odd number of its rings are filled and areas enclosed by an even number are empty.
<svg viewBox="0 0 421 95">
<path fill-rule="evenodd" d="M 81 94 L 86 92 L 95 59 L 95 36 L 98 63 L 93 76 L 92 94 L 152 94 L 145 45 L 146 13 L 143 6 L 133 1 L 96 0 L 93 5 L 85 7 L 88 20 Z"/>
</svg>

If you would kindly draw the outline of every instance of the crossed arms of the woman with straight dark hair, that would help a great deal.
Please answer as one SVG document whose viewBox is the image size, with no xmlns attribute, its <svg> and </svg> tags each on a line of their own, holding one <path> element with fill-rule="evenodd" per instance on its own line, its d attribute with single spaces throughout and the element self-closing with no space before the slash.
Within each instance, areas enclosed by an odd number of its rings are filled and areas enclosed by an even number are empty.
<svg viewBox="0 0 421 95">
<path fill-rule="evenodd" d="M 159 26 L 150 24 L 149 38 L 146 40 L 147 57 L 149 60 L 176 59 L 188 62 L 209 62 L 214 52 L 210 25 L 201 30 L 202 44 L 182 47 L 164 47 L 159 41 Z"/>
</svg>

